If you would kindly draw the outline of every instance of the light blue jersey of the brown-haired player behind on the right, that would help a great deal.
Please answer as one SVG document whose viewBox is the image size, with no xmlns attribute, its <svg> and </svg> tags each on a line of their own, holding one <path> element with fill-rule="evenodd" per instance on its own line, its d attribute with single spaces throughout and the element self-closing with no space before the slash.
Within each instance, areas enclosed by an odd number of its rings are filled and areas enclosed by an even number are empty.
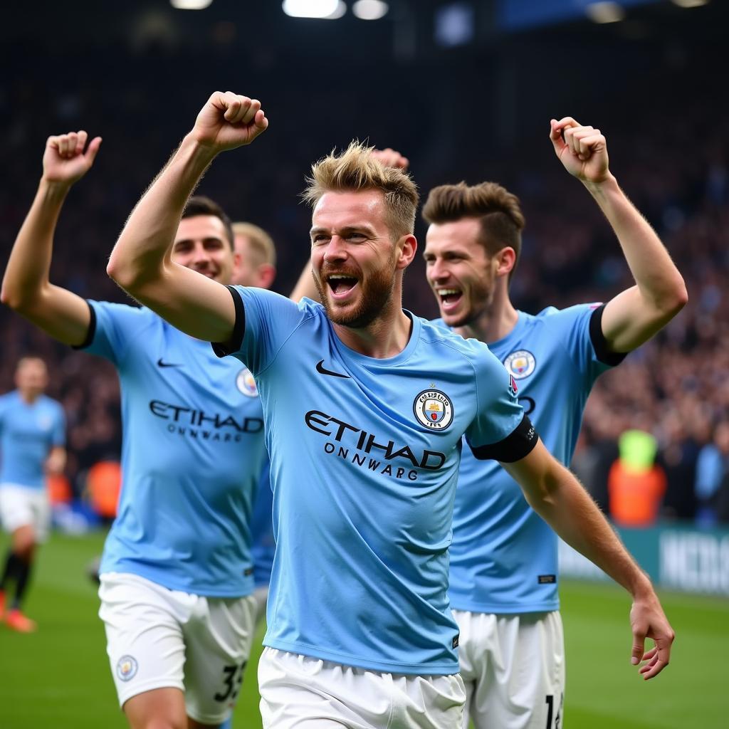
<svg viewBox="0 0 729 729">
<path fill-rule="evenodd" d="M 517 397 L 547 450 L 572 460 L 582 410 L 598 375 L 625 355 L 611 353 L 602 308 L 582 304 L 537 316 L 519 312 L 514 329 L 488 348 L 515 378 Z M 445 326 L 437 319 L 434 323 Z M 464 448 L 453 512 L 451 607 L 470 612 L 556 610 L 557 537 L 495 461 Z"/>
</svg>

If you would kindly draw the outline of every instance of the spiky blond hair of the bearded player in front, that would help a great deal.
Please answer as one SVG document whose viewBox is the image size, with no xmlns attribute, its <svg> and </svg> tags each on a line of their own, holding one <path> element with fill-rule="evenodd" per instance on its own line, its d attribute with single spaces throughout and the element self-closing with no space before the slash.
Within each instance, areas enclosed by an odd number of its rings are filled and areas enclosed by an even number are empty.
<svg viewBox="0 0 729 729">
<path fill-rule="evenodd" d="M 385 196 L 387 225 L 394 237 L 413 233 L 418 186 L 407 173 L 375 160 L 370 154 L 373 149 L 352 141 L 339 155 L 332 150 L 311 165 L 302 198 L 313 208 L 325 192 L 380 190 Z"/>
</svg>

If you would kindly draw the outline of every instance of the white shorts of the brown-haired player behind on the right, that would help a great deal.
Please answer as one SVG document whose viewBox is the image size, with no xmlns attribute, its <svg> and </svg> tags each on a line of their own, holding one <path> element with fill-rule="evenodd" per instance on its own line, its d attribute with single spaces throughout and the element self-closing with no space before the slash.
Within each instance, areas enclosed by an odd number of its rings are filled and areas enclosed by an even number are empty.
<svg viewBox="0 0 729 729">
<path fill-rule="evenodd" d="M 453 610 L 466 685 L 464 729 L 560 729 L 564 634 L 558 612 Z"/>
</svg>

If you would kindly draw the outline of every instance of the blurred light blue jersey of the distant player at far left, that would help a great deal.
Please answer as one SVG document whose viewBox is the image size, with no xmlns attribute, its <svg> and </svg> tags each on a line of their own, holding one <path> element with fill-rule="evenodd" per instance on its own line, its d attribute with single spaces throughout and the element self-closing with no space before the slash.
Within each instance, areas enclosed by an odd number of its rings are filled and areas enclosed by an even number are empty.
<svg viewBox="0 0 729 729">
<path fill-rule="evenodd" d="M 40 395 L 28 403 L 17 390 L 0 396 L 0 484 L 45 488 L 45 461 L 57 445 L 66 445 L 60 402 Z"/>
</svg>

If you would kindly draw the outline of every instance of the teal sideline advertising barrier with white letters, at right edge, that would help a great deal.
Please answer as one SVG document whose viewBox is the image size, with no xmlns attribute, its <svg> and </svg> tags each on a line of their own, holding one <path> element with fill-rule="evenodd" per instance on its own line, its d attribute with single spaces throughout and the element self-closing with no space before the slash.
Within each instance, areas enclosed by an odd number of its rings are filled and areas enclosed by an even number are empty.
<svg viewBox="0 0 729 729">
<path fill-rule="evenodd" d="M 729 529 L 658 526 L 616 531 L 657 587 L 729 597 Z M 578 580 L 610 579 L 561 540 L 559 572 Z"/>
</svg>

